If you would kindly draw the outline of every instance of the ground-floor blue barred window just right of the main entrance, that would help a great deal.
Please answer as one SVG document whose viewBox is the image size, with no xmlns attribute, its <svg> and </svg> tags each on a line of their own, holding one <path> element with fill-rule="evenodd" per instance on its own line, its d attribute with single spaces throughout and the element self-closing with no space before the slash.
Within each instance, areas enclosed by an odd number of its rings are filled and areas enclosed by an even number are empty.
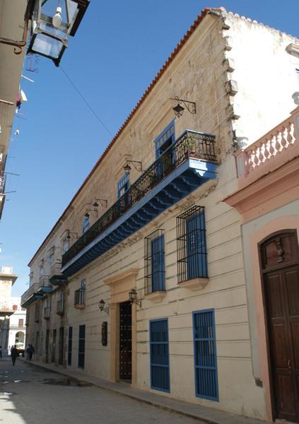
<svg viewBox="0 0 299 424">
<path fill-rule="evenodd" d="M 151 388 L 170 391 L 168 319 L 150 321 Z"/>
</svg>

